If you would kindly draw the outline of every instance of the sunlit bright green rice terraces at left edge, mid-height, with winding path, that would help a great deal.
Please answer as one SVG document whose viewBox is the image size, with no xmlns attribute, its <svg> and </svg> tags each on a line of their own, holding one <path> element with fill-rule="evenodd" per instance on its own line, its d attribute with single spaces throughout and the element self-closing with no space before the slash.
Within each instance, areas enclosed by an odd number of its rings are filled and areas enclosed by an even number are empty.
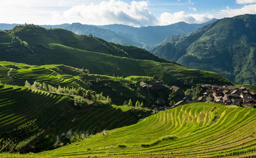
<svg viewBox="0 0 256 158">
<path fill-rule="evenodd" d="M 88 86 L 80 80 L 82 70 L 66 65 L 43 65 L 31 66 L 14 62 L 0 62 L 0 80 L 4 84 L 15 84 L 23 86 L 25 80 L 47 83 L 58 87 L 87 88 Z M 56 70 L 56 71 L 55 71 Z M 61 74 L 59 74 L 60 72 Z M 75 75 L 72 76 L 72 75 Z"/>
</svg>

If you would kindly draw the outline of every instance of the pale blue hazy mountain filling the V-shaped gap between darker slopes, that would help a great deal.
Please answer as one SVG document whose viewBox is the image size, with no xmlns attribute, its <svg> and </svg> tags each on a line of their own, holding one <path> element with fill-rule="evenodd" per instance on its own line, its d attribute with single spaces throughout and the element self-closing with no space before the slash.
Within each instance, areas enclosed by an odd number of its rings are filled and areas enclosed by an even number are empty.
<svg viewBox="0 0 256 158">
<path fill-rule="evenodd" d="M 150 49 L 162 42 L 162 40 L 169 35 L 182 35 L 185 33 L 190 33 L 215 20 L 216 19 L 212 19 L 211 21 L 203 24 L 187 24 L 185 22 L 178 22 L 167 26 L 130 27 L 122 24 L 111 24 L 97 27 L 110 29 L 119 35 L 129 38 L 132 41 L 141 43 L 143 48 Z"/>
</svg>

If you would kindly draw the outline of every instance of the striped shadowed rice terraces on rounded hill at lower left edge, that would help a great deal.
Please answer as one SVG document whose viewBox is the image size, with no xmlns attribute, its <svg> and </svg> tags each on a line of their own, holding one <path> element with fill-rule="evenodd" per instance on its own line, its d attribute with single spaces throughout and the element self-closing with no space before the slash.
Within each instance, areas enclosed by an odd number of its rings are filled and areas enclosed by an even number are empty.
<svg viewBox="0 0 256 158">
<path fill-rule="evenodd" d="M 69 98 L 26 87 L 0 86 L 0 144 L 6 146 L 30 138 L 36 139 L 57 117 Z M 28 141 L 29 142 L 29 141 Z M 24 142 L 25 143 L 25 142 Z M 2 146 L 4 150 L 6 146 Z M 15 147 L 14 147 L 15 148 Z"/>
</svg>

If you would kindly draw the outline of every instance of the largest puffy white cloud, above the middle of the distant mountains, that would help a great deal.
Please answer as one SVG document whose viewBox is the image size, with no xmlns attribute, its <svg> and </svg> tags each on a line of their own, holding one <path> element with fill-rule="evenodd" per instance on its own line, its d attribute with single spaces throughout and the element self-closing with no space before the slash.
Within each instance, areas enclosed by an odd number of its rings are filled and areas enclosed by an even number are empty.
<svg viewBox="0 0 256 158">
<path fill-rule="evenodd" d="M 54 12 L 52 21 L 61 23 L 80 22 L 82 24 L 127 24 L 148 26 L 158 23 L 147 6 L 149 1 L 132 1 L 130 4 L 118 0 L 103 1 L 98 5 L 76 5 L 63 13 Z"/>
</svg>

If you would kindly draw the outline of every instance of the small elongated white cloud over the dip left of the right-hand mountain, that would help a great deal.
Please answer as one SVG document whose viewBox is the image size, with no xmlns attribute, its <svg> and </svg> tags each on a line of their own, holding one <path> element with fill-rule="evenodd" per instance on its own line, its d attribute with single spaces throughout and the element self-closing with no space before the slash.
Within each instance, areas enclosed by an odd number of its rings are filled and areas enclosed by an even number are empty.
<svg viewBox="0 0 256 158">
<path fill-rule="evenodd" d="M 204 23 L 211 19 L 213 19 L 214 16 L 204 13 L 204 14 L 188 14 L 184 11 L 179 11 L 176 13 L 162 13 L 160 16 L 160 25 L 168 25 L 173 24 L 179 21 L 184 21 L 187 23 Z"/>
</svg>

